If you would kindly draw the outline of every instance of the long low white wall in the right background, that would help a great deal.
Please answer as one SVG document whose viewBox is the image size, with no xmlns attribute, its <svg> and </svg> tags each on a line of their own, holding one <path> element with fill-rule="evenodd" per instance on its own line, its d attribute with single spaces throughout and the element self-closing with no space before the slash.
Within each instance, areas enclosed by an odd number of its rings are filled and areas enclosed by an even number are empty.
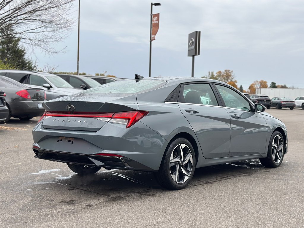
<svg viewBox="0 0 304 228">
<path fill-rule="evenodd" d="M 257 88 L 256 94 L 265 94 L 268 97 L 287 97 L 295 99 L 298 96 L 304 96 L 304 89 L 282 89 L 282 88 Z"/>
</svg>

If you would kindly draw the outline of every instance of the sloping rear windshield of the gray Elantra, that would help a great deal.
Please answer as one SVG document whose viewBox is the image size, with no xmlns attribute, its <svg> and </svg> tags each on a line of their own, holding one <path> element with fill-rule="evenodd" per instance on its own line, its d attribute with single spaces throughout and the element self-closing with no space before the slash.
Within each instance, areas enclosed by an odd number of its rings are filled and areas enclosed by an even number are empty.
<svg viewBox="0 0 304 228">
<path fill-rule="evenodd" d="M 157 80 L 157 79 L 142 79 L 138 82 L 135 80 L 121 80 L 116 82 L 111 82 L 104 84 L 102 86 L 85 90 L 83 93 L 88 94 L 99 94 L 107 96 L 123 96 L 137 94 L 141 92 L 147 92 L 153 89 L 157 89 L 166 85 L 166 81 Z"/>
</svg>

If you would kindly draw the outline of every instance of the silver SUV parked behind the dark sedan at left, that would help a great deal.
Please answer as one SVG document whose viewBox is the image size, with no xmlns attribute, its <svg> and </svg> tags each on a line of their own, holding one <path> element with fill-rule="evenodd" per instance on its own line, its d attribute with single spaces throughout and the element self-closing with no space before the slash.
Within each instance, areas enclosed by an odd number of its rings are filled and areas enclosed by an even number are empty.
<svg viewBox="0 0 304 228">
<path fill-rule="evenodd" d="M 75 89 L 55 74 L 36 71 L 0 70 L 0 75 L 12 78 L 31 88 L 44 89 L 48 101 L 81 91 L 81 89 Z"/>
</svg>

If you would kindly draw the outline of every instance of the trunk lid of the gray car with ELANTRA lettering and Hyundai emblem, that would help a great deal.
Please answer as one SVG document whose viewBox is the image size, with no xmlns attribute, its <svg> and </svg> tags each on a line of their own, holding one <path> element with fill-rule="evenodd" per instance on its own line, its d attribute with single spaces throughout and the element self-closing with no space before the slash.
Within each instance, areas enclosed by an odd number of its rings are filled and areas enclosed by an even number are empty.
<svg viewBox="0 0 304 228">
<path fill-rule="evenodd" d="M 72 98 L 71 98 L 72 97 Z M 116 112 L 136 111 L 136 96 L 83 96 L 58 98 L 43 104 L 43 127 L 58 130 L 98 131 Z"/>
</svg>

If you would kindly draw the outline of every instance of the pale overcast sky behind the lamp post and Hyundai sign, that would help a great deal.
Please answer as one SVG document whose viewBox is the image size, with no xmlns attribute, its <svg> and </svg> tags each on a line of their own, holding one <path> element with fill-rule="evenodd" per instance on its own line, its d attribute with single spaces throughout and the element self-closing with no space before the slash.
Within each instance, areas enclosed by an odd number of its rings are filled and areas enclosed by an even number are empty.
<svg viewBox="0 0 304 228">
<path fill-rule="evenodd" d="M 81 0 L 80 72 L 120 78 L 149 76 L 150 3 Z M 154 6 L 160 27 L 152 42 L 152 76 L 191 76 L 188 33 L 201 31 L 195 77 L 233 70 L 237 85 L 254 80 L 304 88 L 304 1 L 163 0 Z M 78 9 L 78 1 L 74 2 Z M 75 20 L 78 12 L 75 11 Z M 77 71 L 77 26 L 52 57 L 36 51 L 38 66 Z"/>
</svg>

